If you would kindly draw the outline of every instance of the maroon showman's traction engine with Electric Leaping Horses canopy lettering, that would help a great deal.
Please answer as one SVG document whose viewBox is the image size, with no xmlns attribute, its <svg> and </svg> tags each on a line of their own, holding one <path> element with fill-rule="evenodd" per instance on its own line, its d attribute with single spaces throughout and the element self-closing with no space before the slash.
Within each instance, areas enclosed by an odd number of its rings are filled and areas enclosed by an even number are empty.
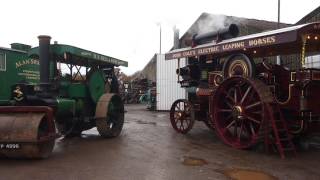
<svg viewBox="0 0 320 180">
<path fill-rule="evenodd" d="M 282 158 L 296 154 L 300 142 L 320 132 L 320 69 L 306 63 L 320 57 L 320 23 L 238 32 L 232 24 L 194 35 L 189 47 L 166 54 L 187 60 L 177 74 L 188 99 L 173 103 L 171 124 L 187 133 L 199 120 L 234 148 L 263 142 Z"/>
</svg>

